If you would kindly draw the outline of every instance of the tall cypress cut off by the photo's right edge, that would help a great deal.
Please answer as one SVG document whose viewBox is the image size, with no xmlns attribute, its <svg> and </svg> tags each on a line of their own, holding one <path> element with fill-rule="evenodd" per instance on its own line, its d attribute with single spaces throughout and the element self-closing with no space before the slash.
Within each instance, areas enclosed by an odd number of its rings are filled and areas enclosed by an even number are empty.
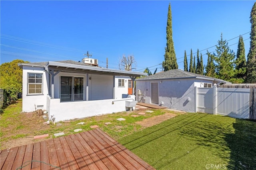
<svg viewBox="0 0 256 170">
<path fill-rule="evenodd" d="M 246 83 L 256 83 L 256 2 L 254 3 L 250 15 L 251 33 L 250 49 L 247 55 L 247 75 Z"/>
</svg>

